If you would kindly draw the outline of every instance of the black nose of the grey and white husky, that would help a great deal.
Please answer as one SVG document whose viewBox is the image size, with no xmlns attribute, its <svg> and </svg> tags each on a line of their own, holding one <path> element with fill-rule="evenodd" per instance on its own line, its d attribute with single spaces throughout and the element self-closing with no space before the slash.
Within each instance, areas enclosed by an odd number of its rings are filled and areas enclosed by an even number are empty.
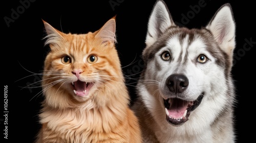
<svg viewBox="0 0 256 143">
<path fill-rule="evenodd" d="M 184 75 L 173 74 L 167 78 L 166 85 L 171 92 L 182 93 L 188 87 L 188 79 Z"/>
</svg>

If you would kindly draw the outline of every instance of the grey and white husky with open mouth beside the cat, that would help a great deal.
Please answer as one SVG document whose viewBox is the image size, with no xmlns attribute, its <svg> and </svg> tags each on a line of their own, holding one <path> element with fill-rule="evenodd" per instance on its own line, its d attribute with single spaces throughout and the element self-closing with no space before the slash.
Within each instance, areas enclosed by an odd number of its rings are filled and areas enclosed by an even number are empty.
<svg viewBox="0 0 256 143">
<path fill-rule="evenodd" d="M 147 25 L 145 68 L 132 106 L 144 142 L 236 142 L 230 4 L 202 28 L 176 25 L 158 0 Z"/>
</svg>

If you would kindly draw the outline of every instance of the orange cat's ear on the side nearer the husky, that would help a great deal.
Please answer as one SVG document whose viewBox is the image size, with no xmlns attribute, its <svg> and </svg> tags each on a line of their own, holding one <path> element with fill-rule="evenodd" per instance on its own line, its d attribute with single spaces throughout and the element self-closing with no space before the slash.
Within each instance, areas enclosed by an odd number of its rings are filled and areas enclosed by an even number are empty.
<svg viewBox="0 0 256 143">
<path fill-rule="evenodd" d="M 107 21 L 96 34 L 96 38 L 101 39 L 102 43 L 116 43 L 116 20 L 115 17 Z"/>
</svg>

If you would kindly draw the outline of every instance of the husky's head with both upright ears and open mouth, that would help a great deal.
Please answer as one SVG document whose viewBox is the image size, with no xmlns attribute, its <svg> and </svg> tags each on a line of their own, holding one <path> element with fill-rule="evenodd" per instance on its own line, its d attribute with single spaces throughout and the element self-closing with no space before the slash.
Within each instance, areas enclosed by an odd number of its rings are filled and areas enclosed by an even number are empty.
<svg viewBox="0 0 256 143">
<path fill-rule="evenodd" d="M 182 125 L 199 106 L 205 106 L 197 109 L 200 116 L 214 119 L 207 110 L 224 106 L 228 100 L 224 93 L 231 88 L 227 79 L 234 28 L 229 5 L 223 5 L 206 27 L 188 29 L 175 25 L 163 1 L 155 4 L 142 53 L 146 63 L 142 80 L 154 100 L 162 104 L 169 123 Z M 144 97 L 144 101 L 150 104 L 150 98 Z"/>
</svg>

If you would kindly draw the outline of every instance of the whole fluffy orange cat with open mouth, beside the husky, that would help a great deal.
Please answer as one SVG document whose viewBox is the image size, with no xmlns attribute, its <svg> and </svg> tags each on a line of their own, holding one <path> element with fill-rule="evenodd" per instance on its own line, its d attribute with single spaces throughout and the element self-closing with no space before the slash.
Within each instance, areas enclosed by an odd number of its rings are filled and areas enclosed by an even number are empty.
<svg viewBox="0 0 256 143">
<path fill-rule="evenodd" d="M 36 142 L 142 142 L 115 48 L 115 17 L 87 34 L 43 22 L 51 50 Z"/>
</svg>

